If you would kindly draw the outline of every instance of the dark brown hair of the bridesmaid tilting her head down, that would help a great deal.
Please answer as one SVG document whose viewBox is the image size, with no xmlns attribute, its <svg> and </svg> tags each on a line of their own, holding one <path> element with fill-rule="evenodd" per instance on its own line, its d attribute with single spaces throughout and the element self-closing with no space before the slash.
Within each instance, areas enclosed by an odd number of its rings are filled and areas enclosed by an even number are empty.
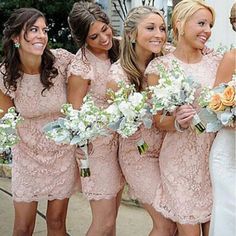
<svg viewBox="0 0 236 236">
<path fill-rule="evenodd" d="M 89 28 L 95 21 L 103 22 L 111 27 L 108 16 L 102 11 L 98 4 L 84 1 L 74 3 L 68 17 L 68 24 L 71 30 L 71 35 L 78 47 L 81 48 L 84 57 L 84 49 Z M 114 34 L 113 29 L 112 32 Z M 117 61 L 119 57 L 118 39 L 112 39 L 112 48 L 108 51 L 108 55 L 112 63 Z"/>
</svg>

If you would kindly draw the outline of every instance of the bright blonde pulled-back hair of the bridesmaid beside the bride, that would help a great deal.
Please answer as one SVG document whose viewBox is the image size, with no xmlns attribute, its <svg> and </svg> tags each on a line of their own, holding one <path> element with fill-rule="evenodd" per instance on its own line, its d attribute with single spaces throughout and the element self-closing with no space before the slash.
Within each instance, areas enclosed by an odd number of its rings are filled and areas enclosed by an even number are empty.
<svg viewBox="0 0 236 236">
<path fill-rule="evenodd" d="M 187 20 L 198 10 L 200 9 L 207 9 L 211 12 L 213 18 L 213 25 L 215 23 L 215 11 L 214 9 L 208 5 L 203 0 L 182 0 L 179 2 L 172 14 L 172 29 L 173 29 L 173 38 L 174 41 L 177 42 L 179 35 L 182 34 L 185 24 Z M 181 22 L 181 27 L 178 30 L 177 22 Z"/>
</svg>

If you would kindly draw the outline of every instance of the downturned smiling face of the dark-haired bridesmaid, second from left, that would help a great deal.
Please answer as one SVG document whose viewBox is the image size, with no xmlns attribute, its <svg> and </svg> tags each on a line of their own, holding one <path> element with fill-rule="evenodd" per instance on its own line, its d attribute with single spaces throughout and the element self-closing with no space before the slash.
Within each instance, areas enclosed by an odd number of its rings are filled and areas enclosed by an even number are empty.
<svg viewBox="0 0 236 236">
<path fill-rule="evenodd" d="M 101 21 L 95 21 L 89 28 L 86 38 L 87 47 L 91 51 L 108 51 L 112 47 L 112 37 L 110 26 Z"/>
</svg>

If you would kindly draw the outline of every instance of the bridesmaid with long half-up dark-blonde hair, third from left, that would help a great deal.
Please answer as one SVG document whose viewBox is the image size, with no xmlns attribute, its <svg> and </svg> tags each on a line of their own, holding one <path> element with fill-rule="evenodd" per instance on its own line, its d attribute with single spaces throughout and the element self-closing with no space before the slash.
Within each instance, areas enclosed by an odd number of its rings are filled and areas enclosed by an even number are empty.
<svg viewBox="0 0 236 236">
<path fill-rule="evenodd" d="M 143 73 L 155 54 L 161 54 L 166 42 L 166 26 L 162 14 L 155 8 L 142 6 L 133 8 L 125 22 L 121 41 L 120 60 L 111 66 L 107 87 L 118 90 L 118 81 L 134 84 L 137 91 L 145 90 L 147 80 Z M 119 162 L 129 184 L 132 198 L 138 199 L 153 220 L 150 235 L 171 236 L 175 224 L 164 218 L 153 207 L 157 189 L 161 187 L 159 153 L 165 132 L 154 126 L 141 126 L 128 138 L 119 137 Z M 137 148 L 143 139 L 149 146 L 144 154 Z"/>
</svg>

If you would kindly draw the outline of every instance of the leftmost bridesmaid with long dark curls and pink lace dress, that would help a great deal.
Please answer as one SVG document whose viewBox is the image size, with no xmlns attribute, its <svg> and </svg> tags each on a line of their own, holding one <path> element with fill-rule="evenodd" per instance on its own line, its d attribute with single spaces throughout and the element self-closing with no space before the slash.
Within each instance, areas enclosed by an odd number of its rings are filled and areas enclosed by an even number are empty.
<svg viewBox="0 0 236 236">
<path fill-rule="evenodd" d="M 4 26 L 0 107 L 15 106 L 24 119 L 13 149 L 13 235 L 32 235 L 41 199 L 48 200 L 48 235 L 66 235 L 67 205 L 78 184 L 75 150 L 47 140 L 43 127 L 60 116 L 66 102 L 73 54 L 48 49 L 46 20 L 36 9 L 16 10 Z"/>
</svg>

